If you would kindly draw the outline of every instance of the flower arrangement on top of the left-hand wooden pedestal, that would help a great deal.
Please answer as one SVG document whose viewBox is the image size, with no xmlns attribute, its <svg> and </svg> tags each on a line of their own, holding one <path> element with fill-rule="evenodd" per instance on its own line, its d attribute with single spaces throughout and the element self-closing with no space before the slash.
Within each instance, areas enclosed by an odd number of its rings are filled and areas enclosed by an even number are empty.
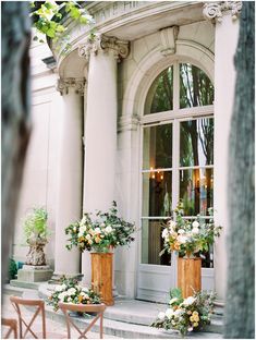
<svg viewBox="0 0 256 340">
<path fill-rule="evenodd" d="M 126 245 L 134 241 L 132 233 L 135 231 L 135 226 L 118 217 L 115 202 L 109 211 L 98 210 L 94 220 L 90 215 L 85 212 L 81 221 L 65 228 L 65 234 L 70 236 L 68 250 L 77 246 L 81 252 L 94 250 L 106 253 L 111 247 Z"/>
</svg>

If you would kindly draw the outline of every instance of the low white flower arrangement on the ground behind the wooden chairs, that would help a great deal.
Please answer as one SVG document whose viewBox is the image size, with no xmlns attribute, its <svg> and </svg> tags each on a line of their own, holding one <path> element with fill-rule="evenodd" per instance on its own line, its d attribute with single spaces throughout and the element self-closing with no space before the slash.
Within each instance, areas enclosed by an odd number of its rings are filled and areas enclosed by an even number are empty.
<svg viewBox="0 0 256 340">
<path fill-rule="evenodd" d="M 61 284 L 56 286 L 53 293 L 48 298 L 48 304 L 59 309 L 58 303 L 99 304 L 100 295 L 92 288 L 83 287 L 76 279 L 62 279 Z"/>
</svg>

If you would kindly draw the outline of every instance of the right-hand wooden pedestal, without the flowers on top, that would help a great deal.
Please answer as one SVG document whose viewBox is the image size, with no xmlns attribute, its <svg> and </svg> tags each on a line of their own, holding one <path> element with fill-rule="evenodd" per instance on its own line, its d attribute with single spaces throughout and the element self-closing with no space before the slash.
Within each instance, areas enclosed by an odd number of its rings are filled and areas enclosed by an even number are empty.
<svg viewBox="0 0 256 340">
<path fill-rule="evenodd" d="M 194 291 L 202 289 L 202 258 L 179 257 L 178 258 L 178 288 L 182 296 L 192 296 Z M 193 291 L 194 290 L 194 291 Z"/>
</svg>

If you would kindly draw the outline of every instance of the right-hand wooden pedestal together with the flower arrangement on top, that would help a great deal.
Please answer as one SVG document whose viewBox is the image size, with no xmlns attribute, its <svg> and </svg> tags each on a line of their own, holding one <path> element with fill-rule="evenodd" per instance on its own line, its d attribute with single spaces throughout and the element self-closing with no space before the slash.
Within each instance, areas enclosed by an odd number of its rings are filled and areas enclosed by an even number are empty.
<svg viewBox="0 0 256 340">
<path fill-rule="evenodd" d="M 175 219 L 168 220 L 162 231 L 164 242 L 160 255 L 164 252 L 178 253 L 178 287 L 181 288 L 183 298 L 193 294 L 193 290 L 200 290 L 200 255 L 220 235 L 221 227 L 215 226 L 212 209 L 209 209 L 209 215 L 208 221 L 200 215 L 194 220 L 184 219 L 181 202 L 174 210 Z"/>
</svg>

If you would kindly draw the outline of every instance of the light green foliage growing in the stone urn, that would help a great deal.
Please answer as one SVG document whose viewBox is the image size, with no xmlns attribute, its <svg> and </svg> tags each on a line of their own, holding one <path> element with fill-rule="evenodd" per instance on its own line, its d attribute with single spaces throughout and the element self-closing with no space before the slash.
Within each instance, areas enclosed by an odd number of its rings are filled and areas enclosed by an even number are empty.
<svg viewBox="0 0 256 340">
<path fill-rule="evenodd" d="M 49 234 L 47 227 L 48 214 L 45 208 L 33 208 L 23 220 L 26 241 L 31 238 L 46 239 Z"/>
</svg>

